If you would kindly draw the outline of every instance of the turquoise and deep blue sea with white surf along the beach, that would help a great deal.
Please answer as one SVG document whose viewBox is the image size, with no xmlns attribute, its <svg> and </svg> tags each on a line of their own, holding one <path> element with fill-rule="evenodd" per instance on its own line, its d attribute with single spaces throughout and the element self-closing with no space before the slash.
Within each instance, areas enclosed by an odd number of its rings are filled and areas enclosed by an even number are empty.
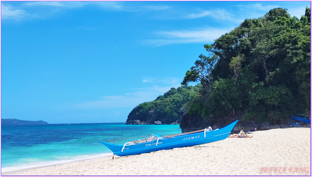
<svg viewBox="0 0 312 177">
<path fill-rule="evenodd" d="M 99 141 L 181 133 L 179 125 L 125 123 L 1 125 L 1 172 L 112 156 Z M 123 145 L 131 140 L 117 140 Z M 114 142 L 111 142 L 114 143 Z"/>
</svg>

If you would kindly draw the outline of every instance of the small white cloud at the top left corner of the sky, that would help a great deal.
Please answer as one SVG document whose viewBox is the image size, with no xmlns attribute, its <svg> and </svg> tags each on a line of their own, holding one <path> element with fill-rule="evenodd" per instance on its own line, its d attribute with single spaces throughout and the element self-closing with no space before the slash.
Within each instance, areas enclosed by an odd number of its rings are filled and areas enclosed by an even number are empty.
<svg viewBox="0 0 312 177">
<path fill-rule="evenodd" d="M 28 16 L 28 13 L 24 10 L 16 9 L 10 5 L 4 5 L 1 3 L 1 19 L 22 19 Z"/>
</svg>

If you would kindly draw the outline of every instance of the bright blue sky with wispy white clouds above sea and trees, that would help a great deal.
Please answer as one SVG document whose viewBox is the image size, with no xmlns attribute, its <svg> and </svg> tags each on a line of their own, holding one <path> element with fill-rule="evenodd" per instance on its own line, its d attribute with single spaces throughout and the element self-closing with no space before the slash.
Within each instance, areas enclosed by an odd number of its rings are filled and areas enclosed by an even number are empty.
<svg viewBox="0 0 312 177">
<path fill-rule="evenodd" d="M 1 118 L 125 122 L 179 87 L 205 44 L 310 1 L 1 2 Z"/>
</svg>

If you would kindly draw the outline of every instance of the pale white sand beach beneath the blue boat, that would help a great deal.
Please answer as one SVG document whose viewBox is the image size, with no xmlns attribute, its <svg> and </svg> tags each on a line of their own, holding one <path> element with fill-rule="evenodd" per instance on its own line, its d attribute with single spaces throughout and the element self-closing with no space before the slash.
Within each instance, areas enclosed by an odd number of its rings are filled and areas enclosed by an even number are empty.
<svg viewBox="0 0 312 177">
<path fill-rule="evenodd" d="M 253 133 L 253 138 L 227 138 L 192 147 L 115 155 L 114 160 L 105 157 L 7 175 L 311 175 L 310 128 Z"/>
</svg>

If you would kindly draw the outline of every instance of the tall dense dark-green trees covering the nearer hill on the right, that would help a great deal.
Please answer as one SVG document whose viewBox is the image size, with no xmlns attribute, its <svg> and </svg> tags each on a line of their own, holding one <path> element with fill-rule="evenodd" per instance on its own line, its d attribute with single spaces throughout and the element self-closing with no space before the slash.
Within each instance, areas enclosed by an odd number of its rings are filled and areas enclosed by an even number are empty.
<svg viewBox="0 0 312 177">
<path fill-rule="evenodd" d="M 181 83 L 202 86 L 188 114 L 272 124 L 310 114 L 310 29 L 310 8 L 300 20 L 275 8 L 204 45 L 208 56 L 201 54 Z"/>
</svg>

